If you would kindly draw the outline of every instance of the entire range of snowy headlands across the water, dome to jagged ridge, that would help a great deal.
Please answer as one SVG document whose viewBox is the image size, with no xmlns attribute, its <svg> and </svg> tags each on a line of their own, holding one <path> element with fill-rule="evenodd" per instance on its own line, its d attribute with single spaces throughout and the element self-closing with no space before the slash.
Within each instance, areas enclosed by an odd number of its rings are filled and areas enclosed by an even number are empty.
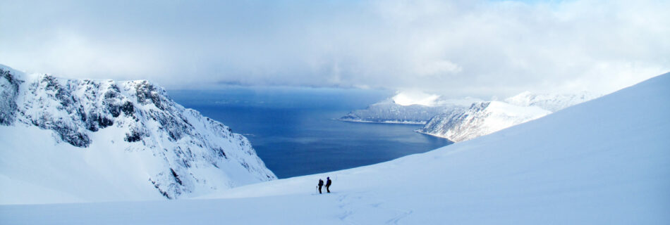
<svg viewBox="0 0 670 225">
<path fill-rule="evenodd" d="M 524 91 L 504 101 L 446 98 L 422 92 L 398 92 L 385 101 L 339 118 L 348 122 L 423 124 L 416 131 L 449 141 L 466 141 L 491 134 L 563 108 L 597 98 L 579 94 L 533 94 Z"/>
</svg>

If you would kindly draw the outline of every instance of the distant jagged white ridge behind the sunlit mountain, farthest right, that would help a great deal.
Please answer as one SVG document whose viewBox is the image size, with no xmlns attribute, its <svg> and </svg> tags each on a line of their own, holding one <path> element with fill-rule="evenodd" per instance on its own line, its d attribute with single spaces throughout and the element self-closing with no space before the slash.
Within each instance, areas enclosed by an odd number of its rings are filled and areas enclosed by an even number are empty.
<svg viewBox="0 0 670 225">
<path fill-rule="evenodd" d="M 579 94 L 533 94 L 530 91 L 524 91 L 521 94 L 505 99 L 506 103 L 519 106 L 537 106 L 544 110 L 556 112 L 568 108 L 571 105 L 577 105 L 600 95 L 589 92 Z"/>
</svg>

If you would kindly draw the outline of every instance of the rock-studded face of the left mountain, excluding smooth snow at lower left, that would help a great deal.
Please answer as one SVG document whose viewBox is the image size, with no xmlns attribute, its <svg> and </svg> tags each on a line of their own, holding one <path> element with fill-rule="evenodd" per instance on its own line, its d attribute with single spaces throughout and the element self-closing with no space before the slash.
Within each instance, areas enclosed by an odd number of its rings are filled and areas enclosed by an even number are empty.
<svg viewBox="0 0 670 225">
<path fill-rule="evenodd" d="M 1 125 L 50 130 L 56 145 L 81 151 L 111 145 L 105 150 L 128 153 L 120 160 L 129 162 L 142 153 L 133 161 L 147 174 L 140 185 L 165 198 L 276 179 L 244 136 L 145 80 L 62 79 L 0 67 L 0 97 Z"/>
</svg>

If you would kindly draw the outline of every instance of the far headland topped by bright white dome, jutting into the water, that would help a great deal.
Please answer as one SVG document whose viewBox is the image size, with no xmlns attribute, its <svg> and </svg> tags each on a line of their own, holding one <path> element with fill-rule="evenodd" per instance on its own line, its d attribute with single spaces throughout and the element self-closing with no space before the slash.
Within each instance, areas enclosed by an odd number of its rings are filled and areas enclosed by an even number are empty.
<svg viewBox="0 0 670 225">
<path fill-rule="evenodd" d="M 462 112 L 476 98 L 447 99 L 437 95 L 401 92 L 385 101 L 354 110 L 339 120 L 351 122 L 384 122 L 426 124 L 435 115 Z"/>
</svg>

